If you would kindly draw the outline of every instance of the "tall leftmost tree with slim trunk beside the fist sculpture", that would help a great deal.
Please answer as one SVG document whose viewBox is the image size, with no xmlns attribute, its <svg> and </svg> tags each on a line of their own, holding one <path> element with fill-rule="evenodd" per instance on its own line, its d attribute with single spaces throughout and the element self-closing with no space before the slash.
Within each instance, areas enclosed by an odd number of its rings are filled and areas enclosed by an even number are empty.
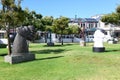
<svg viewBox="0 0 120 80">
<path fill-rule="evenodd" d="M 21 0 L 19 0 L 21 1 Z M 11 54 L 10 27 L 24 20 L 23 11 L 20 5 L 15 4 L 15 0 L 1 0 L 0 23 L 6 27 L 8 39 L 8 55 Z"/>
</svg>

